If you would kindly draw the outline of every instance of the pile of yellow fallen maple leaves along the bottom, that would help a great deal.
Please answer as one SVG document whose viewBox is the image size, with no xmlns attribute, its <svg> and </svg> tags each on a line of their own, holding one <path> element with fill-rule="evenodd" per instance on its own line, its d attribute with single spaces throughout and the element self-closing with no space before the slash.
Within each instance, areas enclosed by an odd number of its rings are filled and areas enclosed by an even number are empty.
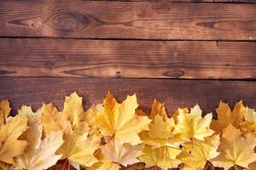
<svg viewBox="0 0 256 170">
<path fill-rule="evenodd" d="M 73 93 L 63 111 L 23 105 L 12 117 L 2 100 L 0 169 L 256 169 L 256 112 L 242 102 L 220 102 L 218 120 L 199 105 L 172 117 L 157 100 L 149 116 L 137 107 L 136 95 L 119 104 L 108 93 L 84 111 Z"/>
</svg>

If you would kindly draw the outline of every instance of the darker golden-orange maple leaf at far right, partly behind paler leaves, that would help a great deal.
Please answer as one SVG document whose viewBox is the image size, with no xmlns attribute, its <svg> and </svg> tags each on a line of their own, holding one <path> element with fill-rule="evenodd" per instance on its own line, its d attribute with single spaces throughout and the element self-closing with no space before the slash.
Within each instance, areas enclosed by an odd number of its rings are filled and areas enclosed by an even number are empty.
<svg viewBox="0 0 256 170">
<path fill-rule="evenodd" d="M 241 122 L 244 122 L 245 107 L 242 101 L 236 103 L 233 111 L 230 110 L 228 104 L 220 101 L 216 112 L 218 120 L 213 119 L 210 127 L 217 133 L 222 132 L 230 123 L 236 128 L 239 128 Z"/>
</svg>

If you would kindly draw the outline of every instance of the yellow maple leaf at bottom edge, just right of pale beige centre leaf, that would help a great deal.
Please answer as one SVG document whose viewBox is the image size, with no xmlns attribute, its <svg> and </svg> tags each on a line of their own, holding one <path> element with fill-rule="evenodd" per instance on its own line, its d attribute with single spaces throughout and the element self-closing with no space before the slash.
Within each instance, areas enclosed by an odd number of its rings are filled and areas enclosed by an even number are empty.
<svg viewBox="0 0 256 170">
<path fill-rule="evenodd" d="M 139 157 L 140 161 L 146 163 L 146 167 L 157 166 L 164 170 L 177 167 L 181 161 L 177 160 L 177 155 L 181 153 L 182 150 L 178 148 L 163 146 L 157 149 L 152 148 L 152 146 L 146 144 L 143 155 Z"/>
</svg>

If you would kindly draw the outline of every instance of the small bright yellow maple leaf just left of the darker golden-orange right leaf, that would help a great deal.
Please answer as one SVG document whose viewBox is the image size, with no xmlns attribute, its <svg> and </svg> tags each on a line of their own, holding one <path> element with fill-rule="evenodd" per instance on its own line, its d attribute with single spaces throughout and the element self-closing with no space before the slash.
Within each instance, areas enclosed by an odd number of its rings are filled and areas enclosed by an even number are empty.
<svg viewBox="0 0 256 170">
<path fill-rule="evenodd" d="M 209 113 L 201 117 L 201 113 L 202 111 L 199 105 L 195 105 L 190 113 L 178 109 L 177 116 L 175 117 L 177 125 L 174 129 L 174 133 L 180 133 L 181 138 L 185 140 L 203 140 L 205 137 L 211 136 L 212 133 L 214 133 L 209 127 L 212 121 L 212 114 Z"/>
</svg>

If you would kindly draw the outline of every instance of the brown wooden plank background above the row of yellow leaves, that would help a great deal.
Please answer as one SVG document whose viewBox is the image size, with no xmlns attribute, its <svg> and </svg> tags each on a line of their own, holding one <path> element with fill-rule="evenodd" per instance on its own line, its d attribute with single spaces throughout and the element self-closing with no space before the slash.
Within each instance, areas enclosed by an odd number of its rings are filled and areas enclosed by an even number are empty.
<svg viewBox="0 0 256 170">
<path fill-rule="evenodd" d="M 256 108 L 256 0 L 0 1 L 0 99 L 84 107 L 110 89 L 210 112 Z"/>
</svg>

